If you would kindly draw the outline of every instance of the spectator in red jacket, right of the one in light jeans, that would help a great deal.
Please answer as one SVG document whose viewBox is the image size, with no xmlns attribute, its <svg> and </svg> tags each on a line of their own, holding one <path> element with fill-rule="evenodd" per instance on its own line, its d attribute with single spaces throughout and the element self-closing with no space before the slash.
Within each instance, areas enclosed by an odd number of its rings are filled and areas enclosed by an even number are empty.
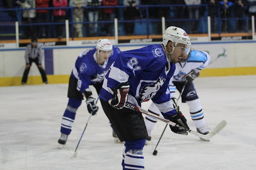
<svg viewBox="0 0 256 170">
<path fill-rule="evenodd" d="M 117 0 L 102 0 L 103 6 L 115 6 L 117 5 Z M 104 8 L 103 9 L 103 19 L 104 21 L 113 21 L 115 18 L 115 9 L 114 8 Z M 114 34 L 114 27 L 113 24 L 105 24 L 105 31 L 107 33 L 107 36 L 113 35 Z"/>
</svg>

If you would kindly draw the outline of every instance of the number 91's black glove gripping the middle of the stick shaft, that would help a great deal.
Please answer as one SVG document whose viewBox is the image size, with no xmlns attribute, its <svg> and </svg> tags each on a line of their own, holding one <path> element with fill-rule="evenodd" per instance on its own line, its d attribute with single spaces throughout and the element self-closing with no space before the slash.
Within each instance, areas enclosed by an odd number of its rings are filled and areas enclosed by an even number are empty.
<svg viewBox="0 0 256 170">
<path fill-rule="evenodd" d="M 186 132 L 189 130 L 187 119 L 183 116 L 180 110 L 177 109 L 177 113 L 170 116 L 169 120 L 181 126 L 181 127 L 176 127 L 176 125 L 175 126 L 170 125 L 170 128 L 174 133 L 178 133 L 181 135 L 188 135 L 188 132 Z M 184 127 L 185 129 L 182 127 Z"/>
</svg>

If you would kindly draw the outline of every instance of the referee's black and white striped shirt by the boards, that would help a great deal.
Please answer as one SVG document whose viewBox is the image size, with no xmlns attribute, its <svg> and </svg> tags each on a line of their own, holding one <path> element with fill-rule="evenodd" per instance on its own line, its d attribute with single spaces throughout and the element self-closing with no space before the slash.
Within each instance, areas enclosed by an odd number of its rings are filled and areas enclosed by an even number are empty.
<svg viewBox="0 0 256 170">
<path fill-rule="evenodd" d="M 33 47 L 32 44 L 28 44 L 26 47 L 25 59 L 27 64 L 29 64 L 29 59 L 36 59 L 38 58 L 38 64 L 42 64 L 43 58 L 43 50 L 42 46 L 37 43 L 36 47 Z"/>
</svg>

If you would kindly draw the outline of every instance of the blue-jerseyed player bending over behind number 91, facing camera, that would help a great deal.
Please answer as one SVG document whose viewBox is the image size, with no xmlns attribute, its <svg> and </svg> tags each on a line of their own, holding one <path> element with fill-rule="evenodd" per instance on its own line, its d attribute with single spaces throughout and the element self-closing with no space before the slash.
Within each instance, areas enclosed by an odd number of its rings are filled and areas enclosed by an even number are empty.
<svg viewBox="0 0 256 170">
<path fill-rule="evenodd" d="M 76 110 L 81 105 L 84 96 L 88 112 L 95 115 L 98 106 L 92 97 L 93 85 L 97 93 L 100 93 L 105 75 L 111 64 L 116 60 L 120 49 L 112 46 L 108 39 L 99 39 L 96 47 L 84 50 L 78 55 L 75 66 L 69 77 L 68 83 L 68 106 L 63 114 L 61 122 L 61 137 L 58 143 L 64 145 L 71 132 L 75 120 Z"/>
</svg>

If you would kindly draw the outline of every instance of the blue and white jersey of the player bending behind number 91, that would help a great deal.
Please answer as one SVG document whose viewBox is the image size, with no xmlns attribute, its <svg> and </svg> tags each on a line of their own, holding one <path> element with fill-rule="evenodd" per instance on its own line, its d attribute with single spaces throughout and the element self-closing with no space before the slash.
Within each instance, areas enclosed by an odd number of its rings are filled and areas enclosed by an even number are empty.
<svg viewBox="0 0 256 170">
<path fill-rule="evenodd" d="M 78 80 L 76 89 L 83 93 L 90 84 L 103 83 L 104 77 L 111 64 L 116 60 L 118 53 L 120 53 L 120 49 L 113 46 L 110 57 L 103 65 L 96 62 L 96 47 L 80 53 L 70 75 Z"/>
</svg>

